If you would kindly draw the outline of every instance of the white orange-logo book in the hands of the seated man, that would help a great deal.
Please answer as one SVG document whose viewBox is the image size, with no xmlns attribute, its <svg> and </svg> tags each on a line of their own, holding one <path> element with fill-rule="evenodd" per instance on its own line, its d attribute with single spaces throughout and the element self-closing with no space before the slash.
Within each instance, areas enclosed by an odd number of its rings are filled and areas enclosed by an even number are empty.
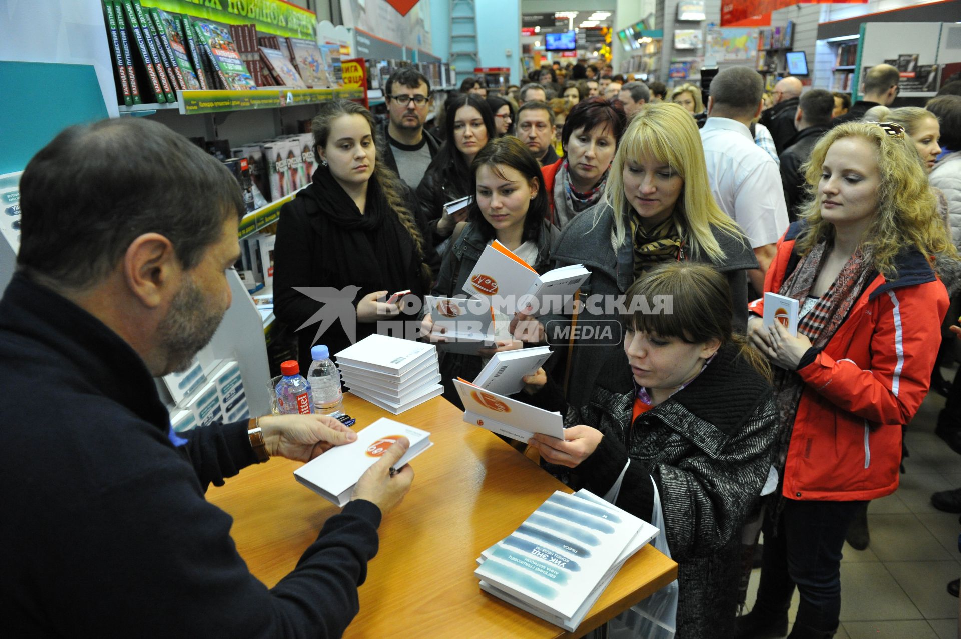
<svg viewBox="0 0 961 639">
<path fill-rule="evenodd" d="M 339 506 L 351 501 L 357 479 L 390 448 L 398 437 L 407 437 L 410 448 L 394 464 L 404 465 L 433 446 L 431 433 L 392 419 L 381 418 L 357 433 L 357 440 L 315 457 L 294 471 L 294 478 L 324 499 Z"/>
</svg>

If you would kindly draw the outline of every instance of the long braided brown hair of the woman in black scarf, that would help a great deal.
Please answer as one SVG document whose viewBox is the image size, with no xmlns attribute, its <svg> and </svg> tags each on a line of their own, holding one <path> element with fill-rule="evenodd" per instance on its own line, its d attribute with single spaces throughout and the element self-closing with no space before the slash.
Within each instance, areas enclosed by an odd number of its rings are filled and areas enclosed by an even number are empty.
<svg viewBox="0 0 961 639">
<path fill-rule="evenodd" d="M 370 125 L 370 135 L 377 138 L 377 123 L 374 115 L 351 100 L 331 100 L 320 105 L 317 115 L 310 122 L 310 130 L 313 132 L 314 145 L 318 147 L 327 146 L 327 138 L 331 135 L 333 120 L 342 115 L 360 115 Z M 378 146 L 377 158 L 374 160 L 374 173 L 371 180 L 376 180 L 381 186 L 384 199 L 387 201 L 387 208 L 397 213 L 397 218 L 404 225 L 407 234 L 414 243 L 414 251 L 417 258 L 421 261 L 421 275 L 427 282 L 431 282 L 433 275 L 431 267 L 424 261 L 424 236 L 417 227 L 414 214 L 407 209 L 407 200 L 404 194 L 407 187 L 401 182 L 400 177 L 393 171 L 387 163 L 382 161 L 383 152 Z"/>
</svg>

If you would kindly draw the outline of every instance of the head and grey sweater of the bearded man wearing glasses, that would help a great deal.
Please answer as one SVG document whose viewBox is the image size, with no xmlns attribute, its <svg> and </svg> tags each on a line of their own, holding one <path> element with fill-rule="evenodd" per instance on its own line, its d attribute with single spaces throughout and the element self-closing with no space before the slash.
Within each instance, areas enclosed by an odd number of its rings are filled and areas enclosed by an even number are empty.
<svg viewBox="0 0 961 639">
<path fill-rule="evenodd" d="M 410 66 L 390 74 L 384 86 L 389 118 L 382 127 L 387 166 L 416 190 L 440 143 L 424 130 L 431 110 L 431 82 Z"/>
</svg>

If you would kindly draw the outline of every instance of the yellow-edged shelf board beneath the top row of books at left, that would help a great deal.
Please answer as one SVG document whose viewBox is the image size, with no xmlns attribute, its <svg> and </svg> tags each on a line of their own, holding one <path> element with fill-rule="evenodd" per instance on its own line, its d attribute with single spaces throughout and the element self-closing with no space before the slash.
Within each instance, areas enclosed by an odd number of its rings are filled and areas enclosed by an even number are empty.
<svg viewBox="0 0 961 639">
<path fill-rule="evenodd" d="M 298 105 L 319 104 L 334 97 L 360 100 L 362 88 L 294 88 L 271 87 L 239 90 L 178 90 L 177 102 L 120 106 L 120 114 L 139 114 L 143 111 L 178 109 L 181 114 L 216 113 L 277 109 Z"/>
</svg>

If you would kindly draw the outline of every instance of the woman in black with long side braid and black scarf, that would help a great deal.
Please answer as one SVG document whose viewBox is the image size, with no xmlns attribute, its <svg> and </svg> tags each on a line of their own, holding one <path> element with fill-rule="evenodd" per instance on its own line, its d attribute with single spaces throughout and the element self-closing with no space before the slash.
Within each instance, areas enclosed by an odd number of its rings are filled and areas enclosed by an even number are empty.
<svg viewBox="0 0 961 639">
<path fill-rule="evenodd" d="M 349 100 L 319 111 L 312 129 L 320 163 L 313 182 L 283 205 L 274 247 L 274 312 L 300 329 L 302 374 L 318 340 L 336 355 L 352 343 L 346 326 L 356 324 L 359 340 L 380 320 L 403 319 L 387 296 L 409 289 L 422 297 L 433 271 L 425 260 L 436 265 L 409 189 L 379 161 L 371 112 Z"/>
</svg>

